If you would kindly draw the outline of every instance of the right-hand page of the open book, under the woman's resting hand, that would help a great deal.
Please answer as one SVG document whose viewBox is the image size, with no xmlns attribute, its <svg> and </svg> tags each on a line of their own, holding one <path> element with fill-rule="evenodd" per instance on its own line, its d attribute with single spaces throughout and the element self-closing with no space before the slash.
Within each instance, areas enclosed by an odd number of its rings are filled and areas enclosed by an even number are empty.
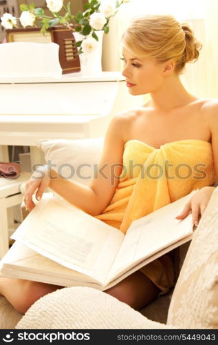
<svg viewBox="0 0 218 345">
<path fill-rule="evenodd" d="M 175 219 L 191 195 L 132 222 L 113 262 L 109 280 L 193 233 L 192 215 L 182 220 Z"/>
</svg>

